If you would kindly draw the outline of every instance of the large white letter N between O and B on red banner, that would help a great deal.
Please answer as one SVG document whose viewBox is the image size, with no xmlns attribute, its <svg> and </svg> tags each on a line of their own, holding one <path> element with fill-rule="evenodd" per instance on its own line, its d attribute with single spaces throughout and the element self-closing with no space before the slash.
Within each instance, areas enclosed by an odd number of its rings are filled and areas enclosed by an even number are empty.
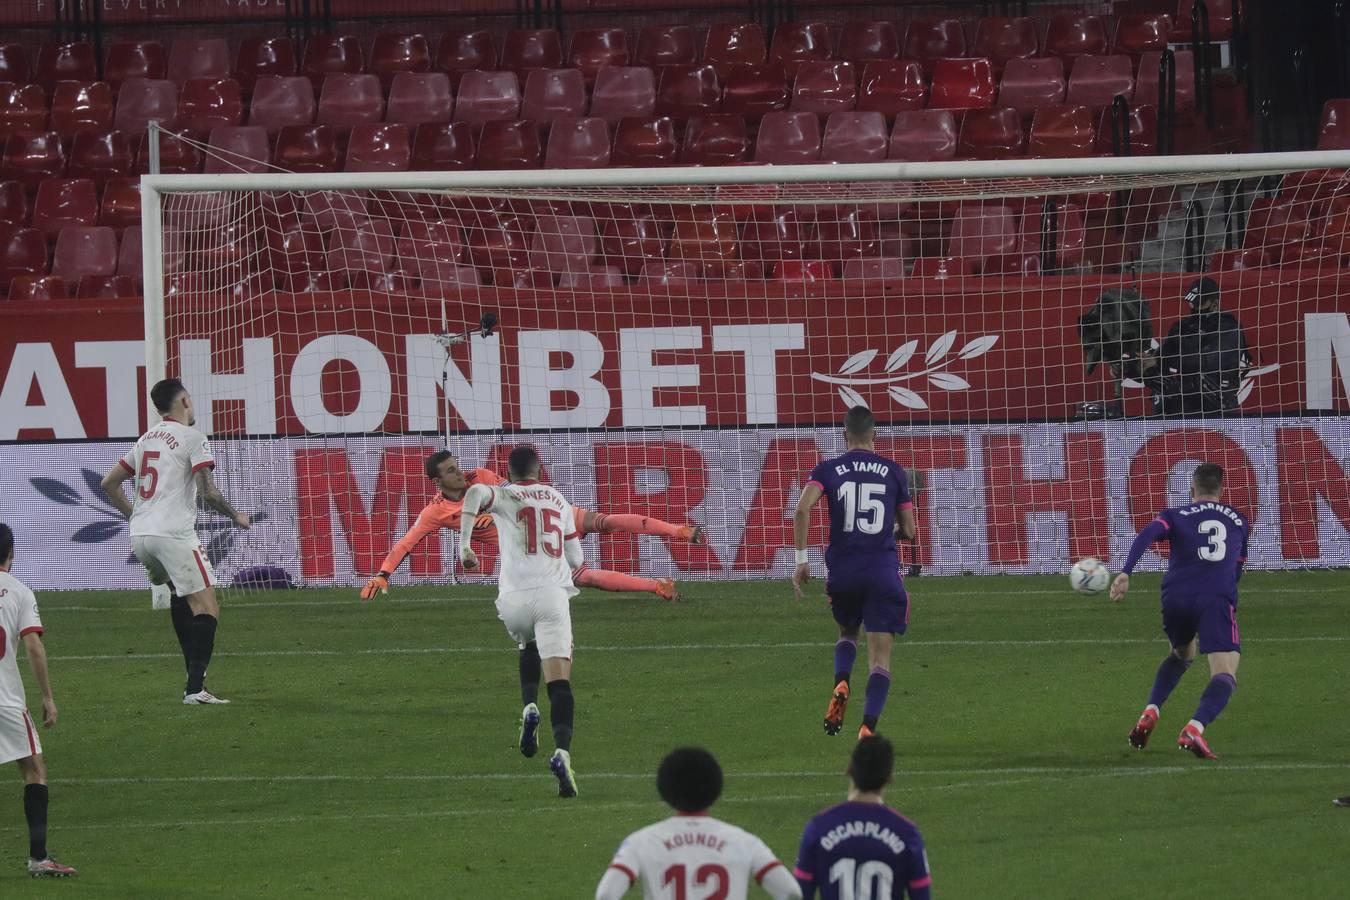
<svg viewBox="0 0 1350 900">
<path fill-rule="evenodd" d="M 474 430 L 502 426 L 501 336 L 474 335 L 468 343 L 468 372 L 454 359 L 447 366 L 446 348 L 433 335 L 408 335 L 408 430 L 440 430 L 440 391 L 450 395 L 464 424 Z M 444 385 L 441 376 L 444 375 Z"/>
</svg>

